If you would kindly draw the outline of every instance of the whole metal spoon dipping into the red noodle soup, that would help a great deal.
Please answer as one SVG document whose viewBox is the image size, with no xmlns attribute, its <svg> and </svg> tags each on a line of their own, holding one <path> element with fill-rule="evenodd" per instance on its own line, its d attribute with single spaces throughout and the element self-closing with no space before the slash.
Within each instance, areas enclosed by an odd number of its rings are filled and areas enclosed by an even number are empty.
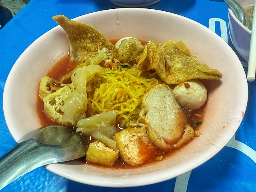
<svg viewBox="0 0 256 192">
<path fill-rule="evenodd" d="M 29 135 L 32 138 L 20 142 L 0 158 L 0 189 L 35 168 L 86 154 L 84 140 L 70 127 L 46 126 Z"/>
</svg>

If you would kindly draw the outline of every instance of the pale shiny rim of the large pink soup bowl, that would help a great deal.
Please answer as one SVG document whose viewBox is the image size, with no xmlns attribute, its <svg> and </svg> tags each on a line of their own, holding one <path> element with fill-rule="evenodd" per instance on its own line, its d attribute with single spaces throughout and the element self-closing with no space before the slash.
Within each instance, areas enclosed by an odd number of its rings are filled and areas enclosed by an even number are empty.
<svg viewBox="0 0 256 192">
<path fill-rule="evenodd" d="M 172 16 L 175 16 L 175 17 L 179 17 L 179 18 L 188 20 L 189 22 L 193 22 L 194 24 L 196 24 L 196 25 L 198 25 L 198 26 L 200 26 L 200 27 L 202 27 L 202 28 L 207 29 L 209 33 L 212 33 L 213 36 L 216 36 L 216 38 L 219 38 L 221 41 L 224 42 L 224 40 L 223 40 L 222 38 L 220 38 L 220 36 L 218 36 L 216 33 L 212 32 L 212 31 L 211 31 L 209 28 L 207 28 L 206 26 L 204 26 L 204 25 L 202 25 L 202 24 L 200 24 L 200 23 L 198 23 L 198 22 L 196 22 L 196 21 L 194 21 L 194 20 L 191 20 L 191 19 L 189 19 L 189 18 L 186 18 L 186 17 L 184 17 L 184 16 L 180 16 L 180 15 L 178 15 L 178 14 L 174 14 L 174 13 L 166 12 L 166 11 L 162 11 L 162 10 L 154 10 L 154 9 L 149 9 L 149 8 L 118 8 L 118 9 L 101 10 L 101 11 L 98 11 L 98 12 L 92 12 L 92 13 L 85 14 L 85 15 L 93 16 L 94 14 L 99 14 L 99 13 L 101 13 L 101 12 L 113 12 L 113 11 L 116 12 L 116 10 L 120 10 L 120 11 L 122 11 L 122 10 L 131 10 L 131 11 L 134 10 L 134 11 L 159 12 L 159 13 L 161 12 L 161 13 L 164 13 L 164 14 L 170 14 L 170 15 L 172 15 Z M 72 20 L 76 20 L 76 19 L 78 19 L 78 18 L 80 18 L 80 17 L 83 17 L 83 16 L 85 16 L 85 15 L 78 16 L 78 17 L 76 17 L 76 18 L 73 18 Z M 54 27 L 54 28 L 48 30 L 46 33 L 42 34 L 42 36 L 40 36 L 39 38 L 43 38 L 44 35 L 48 34 L 50 31 L 52 31 L 52 30 L 54 30 L 54 29 L 56 29 L 56 28 L 60 28 L 60 26 L 58 25 L 58 26 L 56 26 L 56 27 Z M 38 40 L 39 38 L 37 38 L 36 40 Z M 35 40 L 35 41 L 36 41 L 36 40 Z M 35 42 L 35 41 L 34 41 L 34 42 Z M 32 44 L 33 44 L 34 42 L 32 42 Z M 226 44 L 226 42 L 225 42 L 225 44 Z M 29 47 L 29 46 L 28 46 L 28 47 Z M 234 52 L 230 46 L 228 46 L 228 47 L 229 47 L 230 51 Z M 228 47 L 227 47 L 227 48 L 228 48 Z M 28 48 L 27 48 L 27 49 L 28 49 Z M 25 51 L 26 51 L 26 50 L 24 50 L 24 52 L 25 52 Z M 23 53 L 22 53 L 22 54 L 23 54 Z M 22 55 L 22 54 L 21 54 L 21 55 Z M 234 53 L 234 55 L 235 55 L 235 53 Z M 237 58 L 237 59 L 238 59 L 238 58 Z M 238 60 L 239 60 L 239 59 L 238 59 Z M 15 68 L 15 66 L 16 66 L 17 64 L 18 64 L 18 63 L 15 62 L 14 66 L 12 67 L 12 69 L 11 69 L 11 71 L 10 71 L 9 74 L 12 74 L 12 72 L 14 71 L 14 68 Z M 242 64 L 241 64 L 241 68 L 242 68 Z M 247 81 L 246 81 L 246 82 L 247 82 Z M 8 84 L 10 84 L 10 76 L 9 76 L 9 75 L 8 75 L 7 80 L 6 80 L 6 85 L 5 85 L 5 87 L 4 87 L 4 94 L 3 94 L 3 108 L 4 108 L 4 116 L 5 116 L 5 118 L 7 117 L 7 111 L 8 111 L 7 102 L 5 102 L 5 101 L 8 100 L 7 94 L 6 94 L 6 92 L 7 92 L 6 87 L 7 87 Z M 247 89 L 245 89 L 245 92 L 244 92 L 243 94 L 244 94 L 244 96 L 245 96 L 245 98 L 246 98 L 246 104 L 243 106 L 243 109 L 244 109 L 244 112 L 245 112 L 245 111 L 246 111 L 246 106 L 247 106 L 247 101 L 248 101 L 248 86 L 247 86 Z M 10 118 L 6 118 L 6 119 L 10 119 Z M 241 119 L 241 120 L 242 120 L 242 119 Z M 241 122 L 240 122 L 240 123 L 241 123 Z M 8 122 L 6 121 L 6 124 L 7 124 L 8 128 L 9 128 L 10 122 L 9 122 L 9 121 L 8 121 Z M 239 124 L 239 125 L 240 125 L 240 124 Z M 238 126 L 238 127 L 239 127 L 239 126 Z M 238 127 L 236 128 L 236 130 L 238 129 Z M 16 140 L 17 138 L 16 138 L 16 136 L 15 136 L 13 130 L 10 130 L 10 129 L 9 129 L 9 131 L 11 132 L 12 136 L 13 136 L 14 139 Z M 235 131 L 235 132 L 236 132 L 236 131 Z M 235 132 L 234 132 L 234 133 L 235 133 Z M 143 181 L 143 182 L 138 182 L 136 178 L 132 178 L 132 180 L 130 180 L 130 182 L 127 182 L 127 183 L 118 183 L 118 182 L 116 182 L 116 183 L 114 183 L 115 186 L 113 186 L 113 183 L 112 183 L 112 182 L 109 182 L 109 183 L 108 183 L 108 182 L 99 182 L 99 181 L 94 181 L 94 182 L 92 182 L 92 180 L 90 180 L 90 182 L 87 182 L 86 179 L 84 179 L 84 178 L 79 178 L 79 177 L 76 177 L 76 178 L 75 178 L 74 176 L 72 177 L 72 176 L 70 176 L 68 173 L 63 172 L 63 171 L 59 170 L 58 168 L 56 168 L 56 167 L 54 166 L 54 164 L 49 164 L 49 165 L 44 166 L 44 167 L 45 167 L 46 169 L 48 169 L 49 171 L 54 172 L 55 174 L 58 174 L 58 175 L 60 175 L 60 176 L 63 176 L 63 177 L 65 177 L 65 178 L 68 178 L 68 179 L 70 179 L 70 180 L 74 180 L 74 181 L 76 181 L 76 182 L 81 182 L 81 183 L 84 183 L 84 184 L 90 184 L 90 185 L 94 185 L 94 186 L 104 186 L 104 187 L 132 187 L 132 186 L 143 186 L 143 185 L 154 184 L 154 183 L 163 182 L 163 181 L 165 181 L 165 180 L 169 180 L 169 179 L 175 178 L 176 176 L 178 176 L 178 175 L 180 175 L 180 174 L 184 174 L 184 173 L 186 173 L 186 172 L 188 172 L 188 171 L 190 171 L 190 170 L 192 170 L 192 169 L 194 169 L 194 168 L 196 168 L 196 167 L 202 165 L 204 162 L 208 161 L 208 160 L 209 160 L 210 158 L 212 158 L 215 154 L 217 154 L 217 153 L 228 143 L 228 141 L 232 138 L 232 136 L 233 136 L 233 135 L 230 135 L 228 140 L 226 140 L 225 142 L 222 142 L 222 143 L 219 145 L 218 148 L 214 148 L 214 150 L 212 150 L 211 153 L 208 153 L 207 155 L 205 155 L 204 158 L 198 159 L 198 161 L 197 161 L 196 163 L 194 163 L 194 164 L 188 164 L 188 165 L 183 164 L 184 167 L 182 168 L 182 171 L 181 171 L 180 173 L 176 173 L 175 175 L 169 175 L 169 176 L 166 175 L 166 172 L 165 172 L 165 174 L 161 174 L 161 173 L 159 174 L 159 173 L 158 173 L 158 174 L 157 174 L 157 177 L 156 177 L 156 172 L 151 172 L 151 173 L 147 173 L 147 174 L 144 174 L 144 175 L 143 175 L 143 178 L 144 178 L 144 181 Z M 123 179 L 125 180 L 125 178 L 123 178 Z"/>
</svg>

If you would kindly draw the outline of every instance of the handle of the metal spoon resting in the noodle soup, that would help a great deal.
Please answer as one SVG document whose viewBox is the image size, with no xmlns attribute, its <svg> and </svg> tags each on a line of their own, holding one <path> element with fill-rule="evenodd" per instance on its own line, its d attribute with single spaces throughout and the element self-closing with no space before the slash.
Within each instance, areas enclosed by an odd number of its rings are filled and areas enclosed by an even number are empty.
<svg viewBox="0 0 256 192">
<path fill-rule="evenodd" d="M 35 168 L 56 162 L 52 154 L 47 144 L 34 139 L 17 144 L 0 158 L 0 189 Z"/>
</svg>

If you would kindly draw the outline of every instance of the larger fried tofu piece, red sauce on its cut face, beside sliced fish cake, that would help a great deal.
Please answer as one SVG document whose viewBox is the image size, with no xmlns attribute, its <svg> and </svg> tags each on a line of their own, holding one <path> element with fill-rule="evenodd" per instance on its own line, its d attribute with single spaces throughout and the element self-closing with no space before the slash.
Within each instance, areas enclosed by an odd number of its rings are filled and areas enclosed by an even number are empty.
<svg viewBox="0 0 256 192">
<path fill-rule="evenodd" d="M 116 133 L 113 139 L 123 160 L 131 166 L 144 163 L 155 149 L 144 127 L 124 129 Z"/>
</svg>

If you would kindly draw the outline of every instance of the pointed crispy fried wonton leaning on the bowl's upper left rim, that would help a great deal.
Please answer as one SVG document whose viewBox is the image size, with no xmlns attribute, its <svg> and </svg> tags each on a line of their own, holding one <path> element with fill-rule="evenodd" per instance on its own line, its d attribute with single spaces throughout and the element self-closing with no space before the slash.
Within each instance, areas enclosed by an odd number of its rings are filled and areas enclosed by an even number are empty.
<svg viewBox="0 0 256 192">
<path fill-rule="evenodd" d="M 63 15 L 52 17 L 66 32 L 70 44 L 71 60 L 82 63 L 94 57 L 98 49 L 116 52 L 116 47 L 92 26 L 69 20 Z"/>
</svg>

